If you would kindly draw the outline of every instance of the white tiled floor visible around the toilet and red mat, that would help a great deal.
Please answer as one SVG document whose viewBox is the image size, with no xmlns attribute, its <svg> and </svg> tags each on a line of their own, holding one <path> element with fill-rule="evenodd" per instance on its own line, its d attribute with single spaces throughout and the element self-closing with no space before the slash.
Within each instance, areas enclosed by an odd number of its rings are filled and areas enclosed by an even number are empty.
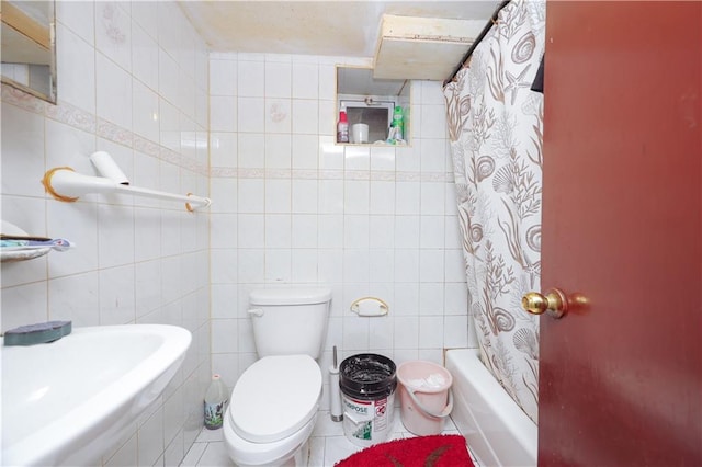
<svg viewBox="0 0 702 467">
<path fill-rule="evenodd" d="M 346 438 L 341 423 L 332 422 L 328 411 L 320 411 L 317 417 L 317 425 L 309 440 L 309 467 L 332 467 L 335 463 L 362 449 Z M 414 434 L 403 426 L 399 408 L 396 408 L 394 418 L 395 430 L 390 440 L 412 437 Z M 443 434 L 458 434 L 451 419 L 446 420 Z M 474 464 L 479 467 L 475 458 Z M 222 430 L 203 429 L 181 467 L 234 467 L 224 446 Z"/>
</svg>

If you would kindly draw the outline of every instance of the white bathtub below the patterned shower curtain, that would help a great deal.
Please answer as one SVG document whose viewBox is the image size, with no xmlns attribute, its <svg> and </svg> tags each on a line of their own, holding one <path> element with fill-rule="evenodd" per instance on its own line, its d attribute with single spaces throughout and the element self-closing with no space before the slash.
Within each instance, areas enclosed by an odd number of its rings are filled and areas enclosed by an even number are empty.
<svg viewBox="0 0 702 467">
<path fill-rule="evenodd" d="M 536 424 L 483 365 L 477 349 L 446 352 L 453 376 L 451 418 L 480 466 L 536 465 Z"/>
</svg>

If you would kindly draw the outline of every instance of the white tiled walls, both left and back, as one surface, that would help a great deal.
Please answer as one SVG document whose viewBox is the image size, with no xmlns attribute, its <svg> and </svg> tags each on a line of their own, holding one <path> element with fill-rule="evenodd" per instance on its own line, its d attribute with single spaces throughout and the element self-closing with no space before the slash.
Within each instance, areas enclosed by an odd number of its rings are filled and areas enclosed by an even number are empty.
<svg viewBox="0 0 702 467">
<path fill-rule="evenodd" d="M 162 322 L 194 339 L 105 465 L 180 462 L 201 426 L 210 361 L 233 385 L 256 360 L 254 287 L 332 288 L 322 365 L 332 345 L 399 363 L 469 343 L 439 83 L 412 83 L 411 147 L 340 146 L 335 66 L 369 59 L 207 54 L 172 2 L 59 2 L 57 18 L 59 105 L 2 87 L 2 217 L 79 248 L 2 265 L 2 329 Z M 36 183 L 47 169 L 92 173 L 98 149 L 135 185 L 210 194 L 210 212 L 47 198 Z M 352 315 L 366 295 L 390 314 Z"/>
</svg>

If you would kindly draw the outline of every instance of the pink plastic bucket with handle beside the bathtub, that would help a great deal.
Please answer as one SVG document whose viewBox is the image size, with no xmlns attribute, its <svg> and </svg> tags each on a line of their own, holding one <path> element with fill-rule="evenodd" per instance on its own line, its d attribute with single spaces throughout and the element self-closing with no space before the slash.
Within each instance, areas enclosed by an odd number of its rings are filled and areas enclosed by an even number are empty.
<svg viewBox="0 0 702 467">
<path fill-rule="evenodd" d="M 453 409 L 453 377 L 431 362 L 412 361 L 397 367 L 400 414 L 405 428 L 419 436 L 440 434 Z"/>
</svg>

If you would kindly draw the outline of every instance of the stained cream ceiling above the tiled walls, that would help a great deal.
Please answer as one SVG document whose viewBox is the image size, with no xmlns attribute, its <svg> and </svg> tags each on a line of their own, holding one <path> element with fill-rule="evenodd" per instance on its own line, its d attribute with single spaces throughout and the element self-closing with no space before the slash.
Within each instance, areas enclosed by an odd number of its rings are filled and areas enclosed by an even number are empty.
<svg viewBox="0 0 702 467">
<path fill-rule="evenodd" d="M 500 2 L 234 0 L 179 3 L 215 52 L 373 57 L 383 14 L 475 20 L 486 24 Z"/>
</svg>

